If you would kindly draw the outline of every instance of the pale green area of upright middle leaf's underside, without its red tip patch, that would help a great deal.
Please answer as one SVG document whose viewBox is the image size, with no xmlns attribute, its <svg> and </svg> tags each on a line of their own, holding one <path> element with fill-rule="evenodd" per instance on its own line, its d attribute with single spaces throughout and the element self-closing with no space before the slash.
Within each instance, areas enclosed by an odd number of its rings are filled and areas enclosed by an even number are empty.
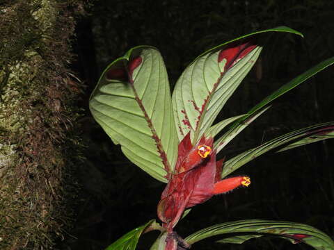
<svg viewBox="0 0 334 250">
<path fill-rule="evenodd" d="M 208 53 L 186 68 L 172 97 L 179 140 L 191 131 L 193 144 L 197 142 L 253 67 L 260 51 L 260 47 L 253 49 L 225 72 L 224 64 L 218 63 L 220 51 Z"/>
</svg>

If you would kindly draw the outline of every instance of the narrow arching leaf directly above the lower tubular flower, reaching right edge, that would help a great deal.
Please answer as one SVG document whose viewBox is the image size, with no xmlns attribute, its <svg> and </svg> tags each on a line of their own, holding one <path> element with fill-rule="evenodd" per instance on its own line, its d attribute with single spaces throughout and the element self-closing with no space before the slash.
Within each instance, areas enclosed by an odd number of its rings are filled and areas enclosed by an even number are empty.
<svg viewBox="0 0 334 250">
<path fill-rule="evenodd" d="M 239 167 L 248 163 L 250 160 L 257 158 L 257 156 L 261 156 L 263 153 L 266 153 L 271 149 L 276 149 L 277 147 L 284 145 L 287 146 L 283 149 L 289 149 L 302 146 L 303 144 L 333 138 L 333 131 L 334 122 L 327 122 L 324 124 L 310 126 L 308 128 L 301 128 L 297 131 L 281 135 L 278 138 L 265 142 L 264 144 L 261 144 L 253 149 L 249 149 L 248 151 L 240 153 L 238 156 L 226 161 L 221 176 L 222 178 L 228 176 L 228 174 L 231 174 Z M 290 142 L 292 143 L 290 144 Z"/>
</svg>

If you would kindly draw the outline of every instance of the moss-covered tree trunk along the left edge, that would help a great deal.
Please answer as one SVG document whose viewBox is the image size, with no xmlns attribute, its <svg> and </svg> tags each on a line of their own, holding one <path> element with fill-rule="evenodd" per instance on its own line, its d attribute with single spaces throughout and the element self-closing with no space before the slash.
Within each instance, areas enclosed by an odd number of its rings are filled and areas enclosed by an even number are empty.
<svg viewBox="0 0 334 250">
<path fill-rule="evenodd" d="M 51 249 L 72 221 L 80 83 L 69 71 L 81 1 L 0 6 L 0 249 Z"/>
</svg>

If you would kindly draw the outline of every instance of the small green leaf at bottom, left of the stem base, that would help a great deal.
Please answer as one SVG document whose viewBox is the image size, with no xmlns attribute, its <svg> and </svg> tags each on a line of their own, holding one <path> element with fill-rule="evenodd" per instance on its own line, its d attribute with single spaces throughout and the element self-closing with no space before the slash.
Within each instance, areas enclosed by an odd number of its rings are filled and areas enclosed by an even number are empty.
<svg viewBox="0 0 334 250">
<path fill-rule="evenodd" d="M 141 234 L 148 228 L 151 224 L 154 224 L 155 220 L 152 219 L 150 222 L 146 223 L 143 226 L 138 228 L 134 228 L 134 230 L 129 231 L 129 233 L 123 235 L 121 238 L 113 242 L 109 247 L 105 250 L 134 250 L 136 249 L 137 243 Z"/>
</svg>

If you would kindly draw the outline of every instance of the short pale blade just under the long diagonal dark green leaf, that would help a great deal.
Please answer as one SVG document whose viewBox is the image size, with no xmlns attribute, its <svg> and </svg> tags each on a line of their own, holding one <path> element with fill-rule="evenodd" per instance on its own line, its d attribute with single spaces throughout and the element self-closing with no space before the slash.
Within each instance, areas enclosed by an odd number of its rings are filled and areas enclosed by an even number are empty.
<svg viewBox="0 0 334 250">
<path fill-rule="evenodd" d="M 217 153 L 225 147 L 228 142 L 230 142 L 234 137 L 236 137 L 241 131 L 243 131 L 249 124 L 255 121 L 257 117 L 260 117 L 264 112 L 266 112 L 271 106 L 263 108 L 262 110 L 257 110 L 252 115 L 246 115 L 247 119 L 244 119 L 245 115 L 240 118 L 240 122 L 237 125 L 232 126 L 226 133 L 224 133 L 220 138 L 214 142 L 214 149 Z"/>
</svg>

